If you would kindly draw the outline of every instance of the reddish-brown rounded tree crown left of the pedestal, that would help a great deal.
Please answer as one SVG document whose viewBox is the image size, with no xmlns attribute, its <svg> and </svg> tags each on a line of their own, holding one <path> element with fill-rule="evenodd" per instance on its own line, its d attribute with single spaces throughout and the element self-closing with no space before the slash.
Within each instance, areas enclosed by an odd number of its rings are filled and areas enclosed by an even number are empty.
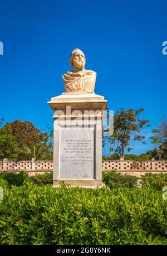
<svg viewBox="0 0 167 256">
<path fill-rule="evenodd" d="M 37 129 L 31 122 L 15 120 L 6 125 L 11 126 L 11 135 L 16 139 L 20 148 L 22 146 L 32 148 L 36 143 L 40 143 L 45 139 L 45 134 Z"/>
</svg>

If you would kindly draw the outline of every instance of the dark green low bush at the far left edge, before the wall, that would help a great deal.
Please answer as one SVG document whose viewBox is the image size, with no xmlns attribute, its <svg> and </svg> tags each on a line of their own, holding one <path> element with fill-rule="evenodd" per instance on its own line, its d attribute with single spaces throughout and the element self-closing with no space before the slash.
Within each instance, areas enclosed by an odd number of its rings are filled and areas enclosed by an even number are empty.
<svg viewBox="0 0 167 256">
<path fill-rule="evenodd" d="M 1 172 L 0 178 L 3 178 L 3 180 L 7 181 L 8 185 L 16 185 L 21 186 L 23 185 L 23 181 L 28 181 L 28 173 L 21 171 L 19 173 L 14 172 Z"/>
</svg>

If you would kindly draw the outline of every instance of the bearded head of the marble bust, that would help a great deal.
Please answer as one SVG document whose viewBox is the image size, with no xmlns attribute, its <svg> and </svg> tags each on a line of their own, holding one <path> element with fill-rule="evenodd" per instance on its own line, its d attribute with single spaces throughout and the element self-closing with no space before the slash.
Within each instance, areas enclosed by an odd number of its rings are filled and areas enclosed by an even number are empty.
<svg viewBox="0 0 167 256">
<path fill-rule="evenodd" d="M 73 50 L 69 61 L 71 66 L 73 66 L 73 70 L 82 71 L 86 64 L 84 52 L 80 49 Z"/>
</svg>

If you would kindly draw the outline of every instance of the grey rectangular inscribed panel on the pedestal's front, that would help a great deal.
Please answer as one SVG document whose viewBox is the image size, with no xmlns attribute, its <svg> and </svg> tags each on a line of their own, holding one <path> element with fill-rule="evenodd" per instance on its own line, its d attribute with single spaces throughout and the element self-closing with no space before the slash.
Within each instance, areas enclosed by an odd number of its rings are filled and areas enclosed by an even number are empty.
<svg viewBox="0 0 167 256">
<path fill-rule="evenodd" d="M 94 130 L 60 129 L 60 178 L 94 179 Z"/>
</svg>

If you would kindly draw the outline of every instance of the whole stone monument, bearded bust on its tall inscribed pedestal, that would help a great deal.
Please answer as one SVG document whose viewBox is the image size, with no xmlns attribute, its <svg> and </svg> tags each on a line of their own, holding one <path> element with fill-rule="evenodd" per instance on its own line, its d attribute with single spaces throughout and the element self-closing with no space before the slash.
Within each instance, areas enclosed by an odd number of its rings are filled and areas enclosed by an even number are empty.
<svg viewBox="0 0 167 256">
<path fill-rule="evenodd" d="M 86 70 L 80 49 L 70 56 L 72 71 L 63 74 L 65 93 L 51 98 L 53 109 L 53 186 L 102 186 L 102 112 L 107 100 L 94 93 L 96 72 Z"/>
</svg>

